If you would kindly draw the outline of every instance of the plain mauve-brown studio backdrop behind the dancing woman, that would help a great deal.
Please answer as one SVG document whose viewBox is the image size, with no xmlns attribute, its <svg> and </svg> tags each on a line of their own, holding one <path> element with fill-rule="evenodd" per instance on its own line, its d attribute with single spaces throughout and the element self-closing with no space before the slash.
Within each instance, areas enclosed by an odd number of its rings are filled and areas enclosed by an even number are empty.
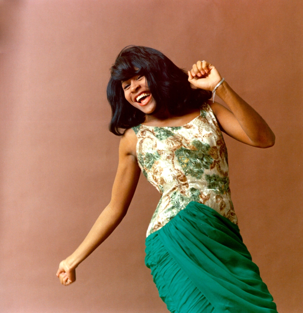
<svg viewBox="0 0 303 313">
<path fill-rule="evenodd" d="M 269 149 L 225 136 L 232 199 L 278 311 L 302 312 L 302 4 L 0 2 L 1 312 L 167 312 L 144 265 L 159 200 L 145 177 L 77 281 L 55 276 L 110 200 L 119 138 L 106 85 L 128 44 L 186 69 L 210 61 L 275 132 Z"/>
</svg>

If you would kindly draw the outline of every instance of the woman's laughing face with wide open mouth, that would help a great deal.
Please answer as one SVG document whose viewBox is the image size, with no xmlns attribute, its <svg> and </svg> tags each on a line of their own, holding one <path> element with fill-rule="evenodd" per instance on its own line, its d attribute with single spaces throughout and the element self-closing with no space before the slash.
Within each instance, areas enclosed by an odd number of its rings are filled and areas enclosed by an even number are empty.
<svg viewBox="0 0 303 313">
<path fill-rule="evenodd" d="M 156 101 L 148 89 L 145 76 L 136 75 L 122 81 L 122 88 L 125 99 L 140 111 L 151 114 L 156 109 Z"/>
</svg>

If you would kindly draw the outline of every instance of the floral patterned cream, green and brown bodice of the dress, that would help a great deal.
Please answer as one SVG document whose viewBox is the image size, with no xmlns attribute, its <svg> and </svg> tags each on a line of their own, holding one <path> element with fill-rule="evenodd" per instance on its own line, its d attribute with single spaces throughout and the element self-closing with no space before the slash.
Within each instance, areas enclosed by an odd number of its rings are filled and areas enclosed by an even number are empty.
<svg viewBox="0 0 303 313">
<path fill-rule="evenodd" d="M 138 138 L 138 164 L 161 194 L 147 236 L 191 201 L 203 203 L 237 224 L 226 145 L 211 107 L 204 103 L 200 111 L 184 126 L 132 127 Z"/>
</svg>

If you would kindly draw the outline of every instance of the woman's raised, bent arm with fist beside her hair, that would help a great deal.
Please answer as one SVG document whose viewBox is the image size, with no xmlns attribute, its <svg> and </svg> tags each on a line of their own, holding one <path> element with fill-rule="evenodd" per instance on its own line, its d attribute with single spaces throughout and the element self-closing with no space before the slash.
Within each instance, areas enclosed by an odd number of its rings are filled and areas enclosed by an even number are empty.
<svg viewBox="0 0 303 313">
<path fill-rule="evenodd" d="M 212 91 L 221 81 L 218 70 L 206 61 L 198 61 L 188 71 L 189 82 L 197 88 Z M 216 89 L 218 95 L 229 107 L 211 101 L 211 109 L 216 115 L 222 131 L 232 138 L 250 146 L 268 148 L 275 144 L 275 135 L 259 115 L 246 103 L 226 81 Z"/>
</svg>

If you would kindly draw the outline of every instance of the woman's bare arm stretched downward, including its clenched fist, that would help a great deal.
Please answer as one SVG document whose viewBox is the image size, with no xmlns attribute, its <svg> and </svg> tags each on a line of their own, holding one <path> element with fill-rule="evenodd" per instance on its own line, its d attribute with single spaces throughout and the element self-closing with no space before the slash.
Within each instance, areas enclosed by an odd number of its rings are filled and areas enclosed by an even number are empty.
<svg viewBox="0 0 303 313">
<path fill-rule="evenodd" d="M 119 146 L 119 165 L 112 187 L 112 198 L 102 211 L 82 244 L 59 264 L 57 276 L 61 284 L 69 285 L 76 280 L 76 267 L 86 259 L 119 225 L 127 213 L 140 177 L 136 159 L 137 136 L 128 129 Z"/>
</svg>

